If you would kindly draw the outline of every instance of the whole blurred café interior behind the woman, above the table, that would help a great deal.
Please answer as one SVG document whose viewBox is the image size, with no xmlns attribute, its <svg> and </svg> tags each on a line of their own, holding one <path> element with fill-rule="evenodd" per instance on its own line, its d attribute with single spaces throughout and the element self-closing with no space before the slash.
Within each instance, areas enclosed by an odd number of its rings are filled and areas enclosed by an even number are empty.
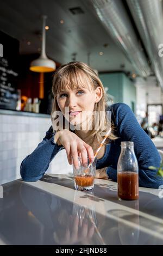
<svg viewBox="0 0 163 256">
<path fill-rule="evenodd" d="M 108 104 L 124 102 L 163 148 L 162 0 L 0 0 L 0 184 L 51 126 L 52 78 L 89 64 Z M 48 172 L 70 173 L 62 150 Z"/>
</svg>

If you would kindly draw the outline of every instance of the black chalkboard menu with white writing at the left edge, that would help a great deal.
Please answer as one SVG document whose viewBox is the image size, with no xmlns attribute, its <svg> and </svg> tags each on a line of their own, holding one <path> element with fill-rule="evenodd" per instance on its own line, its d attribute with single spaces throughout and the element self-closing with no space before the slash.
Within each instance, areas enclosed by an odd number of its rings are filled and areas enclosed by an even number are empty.
<svg viewBox="0 0 163 256">
<path fill-rule="evenodd" d="M 3 57 L 0 57 L 0 108 L 16 109 L 18 92 L 18 40 L 0 32 Z"/>
</svg>

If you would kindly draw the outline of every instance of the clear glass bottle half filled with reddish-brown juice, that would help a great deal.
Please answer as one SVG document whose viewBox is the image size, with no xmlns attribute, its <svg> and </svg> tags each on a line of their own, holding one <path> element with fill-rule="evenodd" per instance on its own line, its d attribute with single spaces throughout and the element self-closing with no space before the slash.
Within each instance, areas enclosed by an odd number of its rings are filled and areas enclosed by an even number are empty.
<svg viewBox="0 0 163 256">
<path fill-rule="evenodd" d="M 139 198 L 139 166 L 134 152 L 134 142 L 121 142 L 117 164 L 118 197 L 124 200 Z"/>
</svg>

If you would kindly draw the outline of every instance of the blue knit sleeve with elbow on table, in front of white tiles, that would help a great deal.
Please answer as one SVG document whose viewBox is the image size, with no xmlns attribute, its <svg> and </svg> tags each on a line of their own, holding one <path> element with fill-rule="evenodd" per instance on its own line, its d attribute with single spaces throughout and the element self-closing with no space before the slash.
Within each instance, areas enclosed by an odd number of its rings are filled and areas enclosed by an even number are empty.
<svg viewBox="0 0 163 256">
<path fill-rule="evenodd" d="M 21 163 L 20 174 L 24 181 L 37 181 L 42 178 L 54 156 L 62 149 L 53 143 L 52 126 L 46 132 L 45 138 L 37 145 L 32 154 Z"/>
</svg>

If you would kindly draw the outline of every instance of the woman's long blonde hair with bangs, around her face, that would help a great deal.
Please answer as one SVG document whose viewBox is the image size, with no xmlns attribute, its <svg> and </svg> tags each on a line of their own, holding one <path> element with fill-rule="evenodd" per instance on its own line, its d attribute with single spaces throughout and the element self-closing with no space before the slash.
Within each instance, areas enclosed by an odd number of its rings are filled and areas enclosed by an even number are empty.
<svg viewBox="0 0 163 256">
<path fill-rule="evenodd" d="M 52 115 L 54 111 L 60 111 L 57 102 L 57 95 L 65 89 L 74 89 L 74 88 L 81 88 L 81 87 L 88 87 L 88 84 L 91 84 L 92 89 L 96 89 L 97 87 L 102 88 L 103 96 L 99 102 L 95 103 L 94 111 L 101 113 L 101 118 L 99 120 L 98 129 L 95 130 L 95 122 L 93 122 L 92 130 L 89 132 L 89 142 L 91 144 L 92 141 L 97 140 L 101 143 L 103 137 L 102 132 L 103 127 L 111 127 L 111 133 L 108 136 L 108 139 L 117 139 L 114 135 L 114 124 L 110 120 L 108 120 L 106 116 L 106 93 L 103 87 L 103 84 L 95 71 L 90 68 L 87 64 L 83 62 L 70 62 L 68 64 L 60 66 L 59 69 L 54 74 L 53 77 L 53 86 L 52 92 L 54 96 L 53 106 L 52 106 Z M 108 124 L 109 123 L 109 124 Z M 108 140 L 106 140 L 108 143 Z"/>
</svg>

